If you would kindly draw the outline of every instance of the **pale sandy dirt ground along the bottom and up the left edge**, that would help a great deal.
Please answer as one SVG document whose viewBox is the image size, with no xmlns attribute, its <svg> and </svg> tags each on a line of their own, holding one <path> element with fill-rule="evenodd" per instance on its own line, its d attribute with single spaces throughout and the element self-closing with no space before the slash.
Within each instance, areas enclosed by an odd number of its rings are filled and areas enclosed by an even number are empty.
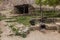
<svg viewBox="0 0 60 40">
<path fill-rule="evenodd" d="M 0 28 L 3 31 L 1 34 L 0 39 L 1 40 L 60 40 L 60 34 L 55 31 L 45 31 L 46 33 L 42 33 L 38 30 L 31 31 L 29 35 L 27 35 L 26 38 L 22 38 L 20 36 L 8 36 L 11 31 L 8 26 L 6 26 L 5 22 L 0 22 Z"/>
</svg>

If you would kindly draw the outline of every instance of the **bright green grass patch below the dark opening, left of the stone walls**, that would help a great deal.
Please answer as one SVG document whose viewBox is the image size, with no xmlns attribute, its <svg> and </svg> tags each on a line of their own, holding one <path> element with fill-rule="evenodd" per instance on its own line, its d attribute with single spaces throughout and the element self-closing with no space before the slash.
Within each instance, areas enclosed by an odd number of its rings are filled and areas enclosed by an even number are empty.
<svg viewBox="0 0 60 40">
<path fill-rule="evenodd" d="M 30 16 L 19 16 L 17 17 L 17 22 L 22 23 L 24 25 L 29 25 L 29 21 L 32 17 Z"/>
</svg>

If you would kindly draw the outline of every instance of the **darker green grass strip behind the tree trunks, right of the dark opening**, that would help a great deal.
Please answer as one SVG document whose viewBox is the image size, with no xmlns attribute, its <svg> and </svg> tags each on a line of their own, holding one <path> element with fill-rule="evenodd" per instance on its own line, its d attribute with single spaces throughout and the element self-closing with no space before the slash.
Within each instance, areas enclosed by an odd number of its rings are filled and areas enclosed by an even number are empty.
<svg viewBox="0 0 60 40">
<path fill-rule="evenodd" d="M 39 10 L 36 10 L 33 14 L 36 14 L 37 16 L 43 16 L 46 17 L 60 17 L 60 11 L 42 11 L 42 13 Z"/>
</svg>

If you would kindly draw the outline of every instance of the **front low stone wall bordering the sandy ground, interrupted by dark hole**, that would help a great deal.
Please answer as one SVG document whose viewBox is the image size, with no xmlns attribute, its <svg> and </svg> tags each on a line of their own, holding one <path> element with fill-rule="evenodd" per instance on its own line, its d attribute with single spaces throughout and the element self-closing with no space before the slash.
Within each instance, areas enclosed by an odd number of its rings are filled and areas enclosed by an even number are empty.
<svg viewBox="0 0 60 40">
<path fill-rule="evenodd" d="M 40 25 L 31 26 L 30 30 L 40 30 Z M 58 24 L 46 24 L 46 30 L 59 30 L 60 31 L 60 25 Z"/>
</svg>

